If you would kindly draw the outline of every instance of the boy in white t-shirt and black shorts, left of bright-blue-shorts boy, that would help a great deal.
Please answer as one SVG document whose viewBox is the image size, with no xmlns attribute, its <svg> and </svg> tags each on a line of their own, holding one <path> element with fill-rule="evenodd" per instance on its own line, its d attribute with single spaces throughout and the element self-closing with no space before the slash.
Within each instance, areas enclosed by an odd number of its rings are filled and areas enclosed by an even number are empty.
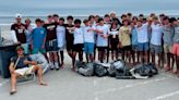
<svg viewBox="0 0 179 100">
<path fill-rule="evenodd" d="M 83 47 L 84 47 L 84 35 L 83 35 L 83 28 L 81 27 L 81 20 L 75 20 L 74 21 L 74 28 L 73 28 L 73 36 L 74 36 L 74 41 L 73 41 L 73 62 L 72 62 L 72 70 L 75 68 L 75 57 L 76 53 L 79 53 L 79 60 L 82 62 L 83 61 Z"/>
</svg>

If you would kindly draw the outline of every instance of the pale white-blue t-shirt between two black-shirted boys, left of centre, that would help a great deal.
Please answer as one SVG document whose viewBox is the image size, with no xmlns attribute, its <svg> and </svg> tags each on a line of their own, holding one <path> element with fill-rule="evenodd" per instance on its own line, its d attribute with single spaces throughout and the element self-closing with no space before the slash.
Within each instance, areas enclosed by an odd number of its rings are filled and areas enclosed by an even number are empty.
<svg viewBox="0 0 179 100">
<path fill-rule="evenodd" d="M 57 26 L 57 41 L 58 47 L 64 47 L 65 45 L 65 27 L 64 26 Z"/>
</svg>

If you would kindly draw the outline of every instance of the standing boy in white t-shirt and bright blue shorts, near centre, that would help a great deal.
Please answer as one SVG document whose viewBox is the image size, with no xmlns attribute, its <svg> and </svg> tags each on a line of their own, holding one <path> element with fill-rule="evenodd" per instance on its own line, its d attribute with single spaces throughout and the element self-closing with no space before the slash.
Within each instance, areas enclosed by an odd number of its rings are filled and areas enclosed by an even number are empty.
<svg viewBox="0 0 179 100">
<path fill-rule="evenodd" d="M 94 47 L 95 47 L 95 26 L 88 20 L 84 20 L 84 51 L 86 53 L 87 62 L 94 61 Z"/>
</svg>

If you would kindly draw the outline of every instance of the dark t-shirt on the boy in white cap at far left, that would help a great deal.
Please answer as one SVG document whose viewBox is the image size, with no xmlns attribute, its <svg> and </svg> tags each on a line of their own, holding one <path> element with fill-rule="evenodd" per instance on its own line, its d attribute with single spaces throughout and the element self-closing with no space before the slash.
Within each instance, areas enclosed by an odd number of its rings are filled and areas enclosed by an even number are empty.
<svg viewBox="0 0 179 100">
<path fill-rule="evenodd" d="M 26 43 L 26 35 L 25 35 L 25 30 L 22 29 L 22 27 L 25 27 L 24 24 L 13 24 L 11 26 L 11 30 L 15 30 L 15 35 L 17 38 L 17 41 L 20 41 L 21 43 Z"/>
</svg>

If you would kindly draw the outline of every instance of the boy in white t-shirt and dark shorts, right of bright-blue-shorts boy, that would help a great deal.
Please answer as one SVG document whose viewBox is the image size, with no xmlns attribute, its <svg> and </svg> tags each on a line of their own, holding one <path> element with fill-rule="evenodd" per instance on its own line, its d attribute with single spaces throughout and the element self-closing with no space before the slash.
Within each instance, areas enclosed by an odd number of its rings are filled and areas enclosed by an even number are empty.
<svg viewBox="0 0 179 100">
<path fill-rule="evenodd" d="M 98 20 L 99 25 L 96 27 L 97 33 L 97 48 L 98 48 L 98 60 L 103 63 L 106 58 L 106 51 L 108 50 L 108 36 L 109 36 L 109 27 L 105 25 L 103 18 Z"/>
</svg>

